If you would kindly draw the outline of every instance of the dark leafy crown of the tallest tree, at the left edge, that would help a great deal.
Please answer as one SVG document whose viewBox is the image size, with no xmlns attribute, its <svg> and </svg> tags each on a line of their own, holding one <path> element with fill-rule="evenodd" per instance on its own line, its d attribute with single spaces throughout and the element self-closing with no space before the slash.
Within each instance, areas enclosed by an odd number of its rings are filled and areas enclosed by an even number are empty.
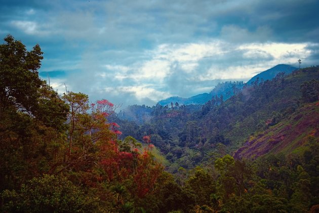
<svg viewBox="0 0 319 213">
<path fill-rule="evenodd" d="M 13 106 L 20 111 L 33 113 L 38 98 L 37 90 L 43 84 L 37 70 L 43 52 L 39 45 L 27 51 L 12 35 L 0 45 L 0 112 Z"/>
</svg>

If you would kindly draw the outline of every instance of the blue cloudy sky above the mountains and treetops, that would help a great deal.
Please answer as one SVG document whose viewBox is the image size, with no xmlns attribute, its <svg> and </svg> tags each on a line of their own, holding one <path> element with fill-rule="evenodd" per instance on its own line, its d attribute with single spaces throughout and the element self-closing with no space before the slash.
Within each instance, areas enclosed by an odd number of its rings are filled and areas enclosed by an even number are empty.
<svg viewBox="0 0 319 213">
<path fill-rule="evenodd" d="M 276 64 L 319 64 L 317 0 L 0 0 L 0 36 L 51 86 L 124 106 L 209 92 Z"/>
</svg>

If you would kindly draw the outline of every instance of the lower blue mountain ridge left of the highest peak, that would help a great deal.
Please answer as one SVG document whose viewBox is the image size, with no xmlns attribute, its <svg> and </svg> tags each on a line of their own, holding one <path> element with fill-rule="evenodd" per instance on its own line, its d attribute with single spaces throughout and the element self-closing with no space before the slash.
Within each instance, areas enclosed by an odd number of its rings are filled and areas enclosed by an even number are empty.
<svg viewBox="0 0 319 213">
<path fill-rule="evenodd" d="M 228 99 L 231 95 L 233 95 L 234 90 L 238 90 L 244 87 L 243 82 L 223 82 L 219 83 L 210 93 L 203 93 L 199 95 L 195 95 L 189 98 L 182 98 L 182 97 L 169 97 L 164 100 L 158 101 L 159 104 L 165 106 L 165 105 L 170 105 L 171 102 L 176 103 L 178 102 L 180 105 L 185 104 L 204 104 L 212 97 L 220 95 L 223 96 L 224 100 Z"/>
</svg>

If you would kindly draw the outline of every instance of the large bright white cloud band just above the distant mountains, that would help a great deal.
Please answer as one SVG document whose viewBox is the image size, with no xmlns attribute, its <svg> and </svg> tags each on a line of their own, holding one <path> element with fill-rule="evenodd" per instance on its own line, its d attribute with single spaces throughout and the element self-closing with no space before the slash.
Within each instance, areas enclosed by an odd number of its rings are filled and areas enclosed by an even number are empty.
<svg viewBox="0 0 319 213">
<path fill-rule="evenodd" d="M 189 97 L 209 92 L 220 80 L 247 81 L 256 72 L 280 63 L 294 64 L 299 57 L 310 54 L 307 45 L 241 45 L 222 40 L 162 44 L 153 50 L 135 53 L 136 59 L 140 60 L 127 63 L 126 58 L 123 58 L 126 65 L 114 62 L 104 64 L 101 65 L 104 71 L 97 72 L 95 77 L 87 74 L 82 79 L 95 82 L 95 86 L 90 87 L 95 94 L 104 92 L 112 97 L 126 94 L 140 102 L 148 98 L 155 103 L 170 96 Z M 95 67 L 98 67 L 98 62 Z"/>
</svg>

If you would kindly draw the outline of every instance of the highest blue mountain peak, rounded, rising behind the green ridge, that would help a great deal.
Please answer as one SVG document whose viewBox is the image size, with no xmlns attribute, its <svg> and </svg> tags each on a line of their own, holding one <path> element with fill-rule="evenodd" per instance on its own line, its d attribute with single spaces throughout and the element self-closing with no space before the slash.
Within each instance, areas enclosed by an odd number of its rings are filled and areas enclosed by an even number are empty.
<svg viewBox="0 0 319 213">
<path fill-rule="evenodd" d="M 286 75 L 292 73 L 294 70 L 298 69 L 297 67 L 288 65 L 288 64 L 278 64 L 270 69 L 267 69 L 264 72 L 259 73 L 258 75 L 254 76 L 251 80 L 247 82 L 248 85 L 251 85 L 254 81 L 259 78 L 259 81 L 262 79 L 264 81 L 271 80 L 274 78 L 278 73 L 284 72 Z"/>
</svg>

